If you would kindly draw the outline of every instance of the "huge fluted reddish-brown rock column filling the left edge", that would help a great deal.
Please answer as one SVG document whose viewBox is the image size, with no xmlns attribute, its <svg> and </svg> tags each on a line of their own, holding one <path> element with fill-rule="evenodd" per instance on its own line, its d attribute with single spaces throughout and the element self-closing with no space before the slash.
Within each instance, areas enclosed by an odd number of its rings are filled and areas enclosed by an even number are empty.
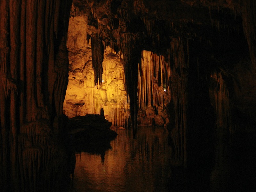
<svg viewBox="0 0 256 192">
<path fill-rule="evenodd" d="M 0 188 L 52 191 L 69 176 L 56 134 L 68 83 L 70 1 L 0 2 Z"/>
</svg>

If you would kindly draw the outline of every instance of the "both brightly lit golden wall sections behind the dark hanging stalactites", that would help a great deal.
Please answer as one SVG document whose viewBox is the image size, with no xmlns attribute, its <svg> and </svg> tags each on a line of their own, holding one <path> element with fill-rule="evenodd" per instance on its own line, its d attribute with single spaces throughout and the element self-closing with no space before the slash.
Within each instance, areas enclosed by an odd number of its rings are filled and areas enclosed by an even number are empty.
<svg viewBox="0 0 256 192">
<path fill-rule="evenodd" d="M 69 20 L 67 40 L 69 82 L 63 113 L 72 118 L 77 115 L 100 114 L 100 109 L 104 108 L 105 117 L 112 122 L 112 125 L 126 126 L 130 106 L 126 99 L 121 55 L 117 55 L 114 50 L 106 47 L 102 62 L 103 81 L 101 84 L 98 81 L 95 86 L 91 40 L 87 39 L 86 23 L 84 15 L 71 17 Z M 163 56 L 148 51 L 142 51 L 141 54 L 141 67 L 139 66 L 141 75 L 138 76 L 140 113 L 138 124 L 152 125 L 152 118 L 154 118 L 156 125 L 163 126 L 169 122 L 166 105 L 170 100 L 167 85 L 170 68 Z"/>
</svg>

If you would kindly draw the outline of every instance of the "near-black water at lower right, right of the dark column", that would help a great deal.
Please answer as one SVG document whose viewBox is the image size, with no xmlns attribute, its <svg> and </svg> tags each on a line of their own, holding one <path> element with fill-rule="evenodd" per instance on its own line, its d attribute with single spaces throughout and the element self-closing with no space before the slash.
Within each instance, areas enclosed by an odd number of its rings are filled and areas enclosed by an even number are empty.
<svg viewBox="0 0 256 192">
<path fill-rule="evenodd" d="M 256 191 L 256 135 L 239 137 L 217 132 L 214 165 L 210 172 L 211 191 Z"/>
</svg>

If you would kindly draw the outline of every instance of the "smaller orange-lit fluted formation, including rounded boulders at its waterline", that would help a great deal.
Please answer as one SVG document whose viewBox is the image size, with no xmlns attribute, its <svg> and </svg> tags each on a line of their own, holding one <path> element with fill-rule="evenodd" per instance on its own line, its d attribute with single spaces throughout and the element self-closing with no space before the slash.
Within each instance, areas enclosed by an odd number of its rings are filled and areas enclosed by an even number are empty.
<svg viewBox="0 0 256 192">
<path fill-rule="evenodd" d="M 171 69 L 163 56 L 143 51 L 139 66 L 138 105 L 139 123 L 163 126 L 168 123 L 166 106 L 170 102 L 171 92 L 168 89 L 168 77 Z"/>
</svg>

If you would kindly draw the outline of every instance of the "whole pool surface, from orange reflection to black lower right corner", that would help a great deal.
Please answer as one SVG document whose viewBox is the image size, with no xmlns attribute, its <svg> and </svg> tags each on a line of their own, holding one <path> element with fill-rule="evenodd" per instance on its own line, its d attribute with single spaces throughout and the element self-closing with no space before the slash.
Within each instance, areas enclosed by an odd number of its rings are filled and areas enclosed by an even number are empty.
<svg viewBox="0 0 256 192">
<path fill-rule="evenodd" d="M 110 149 L 76 153 L 70 192 L 256 191 L 255 135 L 232 138 L 217 131 L 212 152 L 182 173 L 170 164 L 166 129 L 140 127 L 136 140 L 131 130 L 116 132 Z"/>
</svg>

